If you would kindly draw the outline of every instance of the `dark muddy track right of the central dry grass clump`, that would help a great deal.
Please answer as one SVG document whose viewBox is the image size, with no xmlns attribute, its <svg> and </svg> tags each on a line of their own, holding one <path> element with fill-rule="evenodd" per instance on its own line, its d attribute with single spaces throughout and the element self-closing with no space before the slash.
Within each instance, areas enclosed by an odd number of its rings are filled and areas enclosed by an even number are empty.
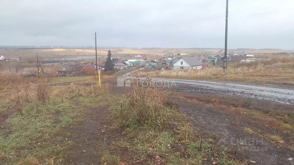
<svg viewBox="0 0 294 165">
<path fill-rule="evenodd" d="M 197 126 L 201 125 L 204 131 L 208 134 L 218 134 L 220 140 L 218 143 L 234 145 L 235 137 L 233 129 L 234 116 L 226 113 L 213 110 L 210 107 L 203 107 L 173 98 L 173 101 L 180 105 L 182 112 L 195 120 Z M 230 124 L 229 124 L 230 123 Z M 250 120 L 243 119 L 242 127 L 258 125 Z M 259 126 L 260 129 L 268 129 L 264 126 Z M 291 164 L 288 158 L 294 158 L 294 151 L 287 148 L 278 148 L 274 144 L 267 142 L 260 137 L 240 131 L 238 145 L 244 151 L 245 157 L 248 160 L 256 161 L 257 164 Z"/>
</svg>

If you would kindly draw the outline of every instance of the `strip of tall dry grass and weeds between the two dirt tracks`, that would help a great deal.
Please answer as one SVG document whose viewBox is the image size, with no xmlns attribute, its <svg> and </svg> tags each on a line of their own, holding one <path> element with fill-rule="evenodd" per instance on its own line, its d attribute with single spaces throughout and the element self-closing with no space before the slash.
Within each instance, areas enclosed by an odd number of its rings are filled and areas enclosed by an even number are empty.
<svg viewBox="0 0 294 165">
<path fill-rule="evenodd" d="M 142 160 L 143 164 L 160 164 L 159 158 L 166 164 L 212 164 L 216 159 L 220 164 L 237 163 L 227 156 L 228 147 L 211 145 L 208 137 L 198 138 L 199 131 L 167 98 L 166 91 L 155 88 L 150 80 L 133 82 L 121 105 L 111 108 L 116 127 L 126 134 L 116 147 L 127 146 L 140 153 L 134 160 Z M 181 153 L 177 151 L 179 145 L 183 145 Z M 204 162 L 202 158 L 208 160 Z"/>
</svg>

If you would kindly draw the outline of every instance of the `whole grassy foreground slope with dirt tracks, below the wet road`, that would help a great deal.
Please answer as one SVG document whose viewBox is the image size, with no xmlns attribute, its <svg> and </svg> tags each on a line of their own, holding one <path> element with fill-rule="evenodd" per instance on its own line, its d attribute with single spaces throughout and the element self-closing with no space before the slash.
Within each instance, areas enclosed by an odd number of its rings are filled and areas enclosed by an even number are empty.
<svg viewBox="0 0 294 165">
<path fill-rule="evenodd" d="M 3 165 L 293 163 L 291 105 L 0 71 Z"/>
</svg>

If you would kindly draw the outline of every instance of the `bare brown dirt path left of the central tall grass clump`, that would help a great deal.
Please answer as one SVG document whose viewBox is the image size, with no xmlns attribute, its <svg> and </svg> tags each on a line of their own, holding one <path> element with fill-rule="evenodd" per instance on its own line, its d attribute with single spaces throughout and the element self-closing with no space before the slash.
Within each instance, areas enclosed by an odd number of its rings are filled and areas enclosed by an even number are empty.
<svg viewBox="0 0 294 165">
<path fill-rule="evenodd" d="M 69 164 L 99 164 L 101 149 L 110 143 L 106 129 L 110 121 L 106 120 L 108 107 L 97 107 L 85 112 L 85 119 L 73 130 L 69 141 L 75 145 L 67 158 Z M 103 131 L 103 132 L 102 132 Z"/>
</svg>

